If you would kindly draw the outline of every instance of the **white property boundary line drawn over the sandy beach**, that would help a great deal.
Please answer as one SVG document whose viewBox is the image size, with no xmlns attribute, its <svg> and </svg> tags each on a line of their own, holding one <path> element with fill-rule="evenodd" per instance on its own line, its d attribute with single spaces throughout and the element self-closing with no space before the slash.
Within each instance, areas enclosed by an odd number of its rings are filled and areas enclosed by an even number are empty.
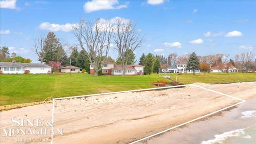
<svg viewBox="0 0 256 144">
<path fill-rule="evenodd" d="M 130 144 L 136 143 L 136 142 L 139 142 L 139 141 L 142 141 L 142 140 L 151 138 L 151 137 L 154 137 L 155 135 L 162 134 L 162 133 L 164 133 L 164 132 L 167 132 L 167 131 L 170 131 L 170 130 L 172 130 L 172 129 L 175 129 L 175 128 L 179 127 L 179 126 L 182 126 L 182 125 L 185 125 L 185 124 L 188 124 L 188 123 L 197 121 L 198 119 L 201 119 L 201 118 L 204 118 L 204 117 L 213 115 L 213 114 L 218 113 L 218 112 L 220 112 L 220 111 L 222 111 L 222 110 L 228 109 L 228 108 L 230 108 L 230 107 L 234 107 L 234 106 L 236 106 L 236 105 L 239 105 L 240 103 L 245 102 L 245 100 L 243 100 L 243 99 L 239 99 L 239 98 L 233 97 L 233 96 L 231 96 L 231 95 L 227 95 L 227 94 L 224 94 L 224 93 L 220 93 L 220 92 L 217 92 L 217 91 L 214 91 L 214 90 L 206 89 L 205 87 L 198 86 L 198 85 L 195 85 L 195 84 L 165 86 L 165 87 L 156 87 L 156 88 L 151 88 L 151 89 L 130 90 L 130 91 L 121 91 L 121 92 L 108 92 L 108 93 L 99 93 L 99 94 L 79 95 L 79 96 L 64 97 L 64 98 L 54 98 L 54 99 L 52 99 L 52 126 L 51 126 L 51 130 L 53 131 L 54 103 L 55 103 L 54 101 L 55 101 L 55 100 L 73 99 L 73 98 L 81 98 L 81 97 L 93 97 L 93 96 L 97 96 L 97 95 L 117 94 L 117 93 L 126 93 L 126 92 L 140 92 L 140 91 L 150 91 L 150 90 L 159 90 L 159 89 L 170 89 L 170 88 L 173 88 L 173 87 L 183 87 L 183 86 L 190 86 L 190 85 L 193 85 L 193 86 L 196 86 L 196 87 L 199 87 L 199 88 L 201 88 L 201 89 L 208 90 L 208 91 L 211 91 L 211 92 L 215 92 L 215 93 L 218 93 L 218 94 L 221 94 L 221 95 L 225 95 L 226 97 L 229 97 L 229 98 L 241 100 L 241 102 L 238 102 L 238 103 L 235 103 L 234 105 L 231 105 L 231 106 L 228 106 L 228 107 L 226 107 L 226 108 L 222 108 L 222 109 L 220 109 L 220 110 L 214 111 L 213 113 L 206 114 L 206 115 L 204 115 L 204 116 L 195 118 L 195 119 L 193 119 L 193 120 L 191 120 L 191 121 L 188 121 L 188 122 L 185 122 L 185 123 L 183 123 L 183 124 L 180 124 L 180 125 L 171 127 L 170 129 L 166 129 L 166 130 L 164 130 L 164 131 L 155 133 L 155 134 L 153 134 L 153 135 L 149 135 L 148 137 L 145 137 L 145 138 L 139 139 L 139 140 L 137 140 L 137 141 L 131 142 Z M 53 144 L 53 133 L 51 133 L 51 144 Z"/>
</svg>

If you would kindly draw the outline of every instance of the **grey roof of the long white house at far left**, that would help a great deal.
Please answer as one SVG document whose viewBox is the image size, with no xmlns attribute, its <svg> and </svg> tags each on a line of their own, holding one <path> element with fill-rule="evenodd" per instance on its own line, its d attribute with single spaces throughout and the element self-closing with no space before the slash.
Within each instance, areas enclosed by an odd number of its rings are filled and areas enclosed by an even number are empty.
<svg viewBox="0 0 256 144">
<path fill-rule="evenodd" d="M 43 63 L 0 62 L 1 67 L 48 67 Z"/>
</svg>

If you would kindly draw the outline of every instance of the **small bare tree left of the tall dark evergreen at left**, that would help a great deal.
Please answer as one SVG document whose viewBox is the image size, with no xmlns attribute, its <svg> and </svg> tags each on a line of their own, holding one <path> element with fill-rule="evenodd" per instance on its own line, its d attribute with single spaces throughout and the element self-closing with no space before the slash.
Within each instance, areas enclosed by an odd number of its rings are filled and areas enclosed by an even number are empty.
<svg viewBox="0 0 256 144">
<path fill-rule="evenodd" d="M 45 46 L 45 36 L 41 33 L 38 38 L 34 40 L 34 51 L 38 56 L 38 60 L 43 63 L 45 54 L 50 51 L 50 47 Z"/>
</svg>

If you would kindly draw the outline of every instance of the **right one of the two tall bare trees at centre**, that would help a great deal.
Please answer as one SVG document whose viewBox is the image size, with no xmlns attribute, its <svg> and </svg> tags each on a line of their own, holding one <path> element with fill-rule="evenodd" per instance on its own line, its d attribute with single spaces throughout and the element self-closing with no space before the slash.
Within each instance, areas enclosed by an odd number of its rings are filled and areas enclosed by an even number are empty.
<svg viewBox="0 0 256 144">
<path fill-rule="evenodd" d="M 118 51 L 118 57 L 122 64 L 123 76 L 125 76 L 126 65 L 132 51 L 141 46 L 142 38 L 138 34 L 136 25 L 132 21 L 127 21 L 123 18 L 118 18 L 115 21 L 114 42 L 115 49 Z"/>
</svg>

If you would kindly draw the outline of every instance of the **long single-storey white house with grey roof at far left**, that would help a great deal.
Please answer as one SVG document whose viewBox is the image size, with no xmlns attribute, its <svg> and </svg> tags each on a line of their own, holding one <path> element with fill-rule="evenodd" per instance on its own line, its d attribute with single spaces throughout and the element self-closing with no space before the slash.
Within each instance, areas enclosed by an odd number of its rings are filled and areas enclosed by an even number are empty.
<svg viewBox="0 0 256 144">
<path fill-rule="evenodd" d="M 47 74 L 51 73 L 51 68 L 42 63 L 0 62 L 3 74 L 24 74 L 25 70 L 30 74 Z"/>
</svg>

